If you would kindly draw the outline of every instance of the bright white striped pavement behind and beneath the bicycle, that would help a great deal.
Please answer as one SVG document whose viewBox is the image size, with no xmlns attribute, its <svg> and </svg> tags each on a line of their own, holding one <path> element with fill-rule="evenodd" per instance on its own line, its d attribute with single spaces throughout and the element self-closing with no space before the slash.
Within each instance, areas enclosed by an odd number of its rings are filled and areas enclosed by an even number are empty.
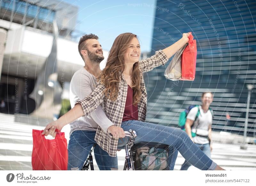
<svg viewBox="0 0 256 186">
<path fill-rule="evenodd" d="M 0 170 L 32 170 L 32 129 L 44 127 L 17 123 L 13 115 L 0 113 Z M 69 125 L 63 132 L 68 141 Z M 247 150 L 240 150 L 239 145 L 213 143 L 212 159 L 227 170 L 256 170 L 256 145 L 247 146 Z M 124 150 L 117 152 L 119 170 L 123 169 L 124 154 Z M 174 169 L 179 170 L 183 162 L 179 153 Z M 198 169 L 191 166 L 188 170 Z"/>
</svg>

